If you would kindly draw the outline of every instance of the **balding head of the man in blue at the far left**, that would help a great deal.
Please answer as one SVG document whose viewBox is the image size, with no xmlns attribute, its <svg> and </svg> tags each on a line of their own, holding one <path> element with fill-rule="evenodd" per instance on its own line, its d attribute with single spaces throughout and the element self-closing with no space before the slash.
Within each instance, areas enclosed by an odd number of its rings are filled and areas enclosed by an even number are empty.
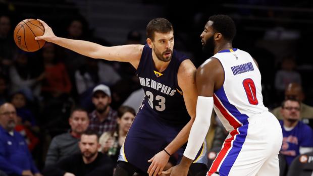
<svg viewBox="0 0 313 176">
<path fill-rule="evenodd" d="M 5 103 L 0 106 L 0 125 L 8 132 L 15 128 L 16 110 L 13 104 Z"/>
</svg>

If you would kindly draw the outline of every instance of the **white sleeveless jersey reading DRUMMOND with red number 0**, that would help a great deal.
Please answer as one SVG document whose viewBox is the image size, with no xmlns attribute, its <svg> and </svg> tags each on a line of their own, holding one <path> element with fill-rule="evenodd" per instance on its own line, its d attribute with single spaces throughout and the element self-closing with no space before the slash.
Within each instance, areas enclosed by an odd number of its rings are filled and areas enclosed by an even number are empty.
<svg viewBox="0 0 313 176">
<path fill-rule="evenodd" d="M 268 111 L 263 104 L 261 75 L 249 53 L 234 48 L 212 57 L 221 62 L 225 73 L 223 86 L 214 92 L 214 110 L 227 131 Z"/>
</svg>

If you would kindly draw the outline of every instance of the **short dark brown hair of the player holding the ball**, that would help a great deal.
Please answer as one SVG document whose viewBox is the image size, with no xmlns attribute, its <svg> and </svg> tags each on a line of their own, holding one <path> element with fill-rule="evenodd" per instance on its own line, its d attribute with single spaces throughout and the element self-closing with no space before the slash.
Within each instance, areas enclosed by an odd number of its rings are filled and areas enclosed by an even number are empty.
<svg viewBox="0 0 313 176">
<path fill-rule="evenodd" d="M 154 18 L 151 20 L 147 27 L 147 38 L 154 40 L 154 32 L 167 33 L 173 31 L 173 25 L 165 18 Z"/>
</svg>

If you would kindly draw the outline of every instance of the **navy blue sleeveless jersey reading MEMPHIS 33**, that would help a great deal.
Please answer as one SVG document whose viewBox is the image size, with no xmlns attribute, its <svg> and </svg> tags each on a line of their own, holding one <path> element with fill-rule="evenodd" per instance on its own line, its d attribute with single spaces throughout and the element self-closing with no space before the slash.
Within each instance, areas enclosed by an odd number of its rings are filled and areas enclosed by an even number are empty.
<svg viewBox="0 0 313 176">
<path fill-rule="evenodd" d="M 187 56 L 174 49 L 170 64 L 160 73 L 154 67 L 152 49 L 147 44 L 143 47 L 136 75 L 145 93 L 143 105 L 149 107 L 145 113 L 175 124 L 190 120 L 177 81 L 178 68 L 186 59 Z"/>
</svg>

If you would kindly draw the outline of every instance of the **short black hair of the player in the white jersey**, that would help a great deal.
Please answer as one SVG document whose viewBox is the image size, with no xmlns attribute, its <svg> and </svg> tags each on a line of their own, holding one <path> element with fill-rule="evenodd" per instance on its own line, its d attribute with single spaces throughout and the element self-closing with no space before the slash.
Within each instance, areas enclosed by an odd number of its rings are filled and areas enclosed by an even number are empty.
<svg viewBox="0 0 313 176">
<path fill-rule="evenodd" d="M 226 40 L 233 41 L 236 35 L 235 22 L 227 15 L 213 15 L 208 18 L 213 21 L 213 29 L 223 35 Z"/>
</svg>

